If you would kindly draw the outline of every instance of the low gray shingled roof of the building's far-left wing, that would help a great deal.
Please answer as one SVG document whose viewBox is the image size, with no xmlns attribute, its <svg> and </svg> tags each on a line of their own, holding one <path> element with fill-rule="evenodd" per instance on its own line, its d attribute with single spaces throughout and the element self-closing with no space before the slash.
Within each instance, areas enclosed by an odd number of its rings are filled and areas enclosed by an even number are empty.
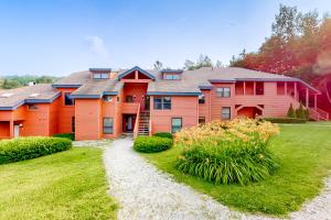
<svg viewBox="0 0 331 220">
<path fill-rule="evenodd" d="M 6 97 L 7 95 L 11 95 Z M 38 95 L 30 97 L 31 95 Z M 23 103 L 52 102 L 61 95 L 51 84 L 38 84 L 17 89 L 0 90 L 0 110 L 17 109 Z"/>
</svg>

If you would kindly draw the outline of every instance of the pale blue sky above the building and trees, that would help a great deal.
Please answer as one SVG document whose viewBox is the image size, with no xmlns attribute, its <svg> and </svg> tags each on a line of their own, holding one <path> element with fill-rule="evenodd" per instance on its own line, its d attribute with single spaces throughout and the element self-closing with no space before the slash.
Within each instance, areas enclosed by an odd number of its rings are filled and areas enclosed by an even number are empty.
<svg viewBox="0 0 331 220">
<path fill-rule="evenodd" d="M 331 12 L 330 0 L 0 0 L 0 76 L 227 64 L 259 47 L 280 3 Z"/>
</svg>

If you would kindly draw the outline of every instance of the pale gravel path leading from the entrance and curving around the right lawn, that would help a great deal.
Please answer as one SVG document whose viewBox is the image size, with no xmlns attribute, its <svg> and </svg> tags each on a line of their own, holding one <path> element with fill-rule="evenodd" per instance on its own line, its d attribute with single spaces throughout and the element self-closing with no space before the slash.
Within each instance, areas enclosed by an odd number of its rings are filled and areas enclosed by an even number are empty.
<svg viewBox="0 0 331 220">
<path fill-rule="evenodd" d="M 172 180 L 132 150 L 132 140 L 119 139 L 106 147 L 104 162 L 110 194 L 118 199 L 118 219 L 242 219 L 267 220 L 264 216 L 229 210 L 209 196 Z M 328 182 L 331 186 L 331 179 Z M 331 187 L 330 187 L 331 188 Z M 330 189 L 329 188 L 329 189 Z M 325 190 L 291 219 L 330 219 L 330 190 Z M 321 198 L 320 198 L 321 197 Z"/>
</svg>

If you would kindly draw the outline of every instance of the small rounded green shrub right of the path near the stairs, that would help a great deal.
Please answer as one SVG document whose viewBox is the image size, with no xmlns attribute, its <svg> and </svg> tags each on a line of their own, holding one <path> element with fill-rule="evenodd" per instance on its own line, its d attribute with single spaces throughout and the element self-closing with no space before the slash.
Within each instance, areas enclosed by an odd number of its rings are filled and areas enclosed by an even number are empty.
<svg viewBox="0 0 331 220">
<path fill-rule="evenodd" d="M 154 153 L 170 148 L 172 140 L 160 136 L 138 136 L 135 140 L 134 148 L 142 153 Z"/>
</svg>

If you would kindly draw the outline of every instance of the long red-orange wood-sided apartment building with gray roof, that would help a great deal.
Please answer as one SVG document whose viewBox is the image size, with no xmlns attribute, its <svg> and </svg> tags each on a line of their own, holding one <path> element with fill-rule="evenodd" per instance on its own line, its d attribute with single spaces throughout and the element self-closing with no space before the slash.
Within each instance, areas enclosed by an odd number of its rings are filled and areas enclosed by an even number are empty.
<svg viewBox="0 0 331 220">
<path fill-rule="evenodd" d="M 175 132 L 212 120 L 286 117 L 303 103 L 313 120 L 320 92 L 305 81 L 244 68 L 160 72 L 90 68 L 53 85 L 0 91 L 0 139 L 75 133 L 76 140 Z"/>
</svg>

